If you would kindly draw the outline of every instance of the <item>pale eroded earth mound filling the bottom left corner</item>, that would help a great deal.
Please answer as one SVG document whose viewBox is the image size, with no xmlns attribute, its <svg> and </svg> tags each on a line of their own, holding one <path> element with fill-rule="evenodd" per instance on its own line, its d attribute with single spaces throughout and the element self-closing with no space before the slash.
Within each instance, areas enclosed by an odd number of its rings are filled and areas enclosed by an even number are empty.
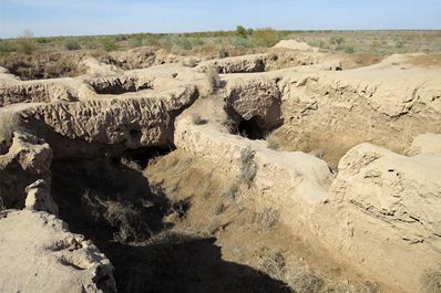
<svg viewBox="0 0 441 293">
<path fill-rule="evenodd" d="M 27 210 L 0 218 L 3 292 L 116 292 L 110 261 L 63 221 Z"/>
</svg>

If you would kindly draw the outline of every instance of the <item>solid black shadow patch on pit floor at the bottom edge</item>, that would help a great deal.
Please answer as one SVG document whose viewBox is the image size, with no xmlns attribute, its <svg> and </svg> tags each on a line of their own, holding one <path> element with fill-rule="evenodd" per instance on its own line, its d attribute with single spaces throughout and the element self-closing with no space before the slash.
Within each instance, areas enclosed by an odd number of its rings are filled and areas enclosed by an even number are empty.
<svg viewBox="0 0 441 293">
<path fill-rule="evenodd" d="M 158 243 L 107 243 L 123 293 L 293 293 L 287 284 L 249 266 L 224 261 L 215 238 L 167 234 Z M 124 251 L 123 253 L 121 253 Z"/>
</svg>

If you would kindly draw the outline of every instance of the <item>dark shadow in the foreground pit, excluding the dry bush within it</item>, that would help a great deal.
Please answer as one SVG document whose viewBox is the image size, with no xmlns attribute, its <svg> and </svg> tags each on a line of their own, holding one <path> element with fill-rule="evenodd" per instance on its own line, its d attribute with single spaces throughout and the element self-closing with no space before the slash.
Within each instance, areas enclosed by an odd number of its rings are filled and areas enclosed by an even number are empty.
<svg viewBox="0 0 441 293">
<path fill-rule="evenodd" d="M 69 159 L 54 160 L 52 176 L 60 218 L 72 232 L 91 239 L 110 259 L 119 292 L 294 292 L 263 272 L 223 260 L 215 238 L 170 230 L 172 227 L 163 223 L 163 218 L 176 202 L 154 190 L 140 171 L 111 159 Z M 111 227 L 93 222 L 93 214 L 82 201 L 85 189 L 133 205 L 153 234 L 136 242 L 115 240 Z M 191 208 L 182 207 L 183 212 Z"/>
</svg>

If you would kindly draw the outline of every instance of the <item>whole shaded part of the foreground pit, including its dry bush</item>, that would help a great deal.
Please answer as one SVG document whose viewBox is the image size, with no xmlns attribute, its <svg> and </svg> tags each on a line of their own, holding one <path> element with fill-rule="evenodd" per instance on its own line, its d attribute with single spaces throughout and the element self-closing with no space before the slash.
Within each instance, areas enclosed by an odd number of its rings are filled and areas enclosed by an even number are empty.
<svg viewBox="0 0 441 293">
<path fill-rule="evenodd" d="M 111 260 L 119 292 L 291 292 L 265 273 L 223 260 L 215 236 L 177 227 L 191 199 L 172 199 L 142 172 L 158 154 L 165 153 L 55 159 L 51 167 L 60 218 Z"/>
</svg>

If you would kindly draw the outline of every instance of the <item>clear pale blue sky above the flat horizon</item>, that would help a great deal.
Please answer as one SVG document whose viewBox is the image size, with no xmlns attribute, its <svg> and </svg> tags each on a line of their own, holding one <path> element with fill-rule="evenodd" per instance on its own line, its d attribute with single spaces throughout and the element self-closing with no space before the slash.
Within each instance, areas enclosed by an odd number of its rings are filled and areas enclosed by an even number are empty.
<svg viewBox="0 0 441 293">
<path fill-rule="evenodd" d="M 0 0 L 0 38 L 232 30 L 441 29 L 441 0 Z"/>
</svg>

